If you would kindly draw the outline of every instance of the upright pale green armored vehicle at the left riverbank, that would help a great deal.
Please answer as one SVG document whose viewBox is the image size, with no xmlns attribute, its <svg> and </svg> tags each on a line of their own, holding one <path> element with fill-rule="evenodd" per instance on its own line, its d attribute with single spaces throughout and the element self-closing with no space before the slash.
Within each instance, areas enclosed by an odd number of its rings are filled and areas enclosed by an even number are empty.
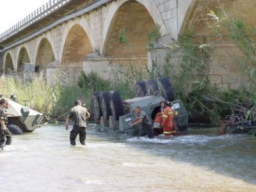
<svg viewBox="0 0 256 192">
<path fill-rule="evenodd" d="M 7 99 L 9 108 L 7 113 L 13 113 L 14 116 L 8 116 L 7 128 L 12 134 L 22 134 L 23 132 L 32 132 L 42 122 L 44 115 L 27 106 Z"/>
</svg>

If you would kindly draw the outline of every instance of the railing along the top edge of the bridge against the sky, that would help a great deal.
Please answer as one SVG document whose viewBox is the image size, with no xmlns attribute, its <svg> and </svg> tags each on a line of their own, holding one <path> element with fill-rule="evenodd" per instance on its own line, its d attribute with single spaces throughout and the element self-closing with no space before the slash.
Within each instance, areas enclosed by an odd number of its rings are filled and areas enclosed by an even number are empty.
<svg viewBox="0 0 256 192">
<path fill-rule="evenodd" d="M 28 26 L 31 26 L 31 24 L 46 17 L 47 15 L 54 12 L 61 6 L 64 6 L 70 1 L 72 0 L 50 0 L 48 3 L 45 3 L 43 6 L 35 10 L 35 12 L 29 14 L 27 17 L 20 20 L 20 22 L 12 26 L 12 28 L 9 28 L 3 33 L 1 33 L 0 42 L 3 42 L 10 36 L 13 36 L 19 31 L 22 31 L 23 29 L 28 28 Z"/>
</svg>

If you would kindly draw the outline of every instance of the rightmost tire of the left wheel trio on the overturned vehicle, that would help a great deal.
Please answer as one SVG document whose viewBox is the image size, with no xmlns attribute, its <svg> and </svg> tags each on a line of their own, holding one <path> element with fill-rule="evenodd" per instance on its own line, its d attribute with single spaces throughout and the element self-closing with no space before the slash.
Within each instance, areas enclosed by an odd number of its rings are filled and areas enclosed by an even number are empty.
<svg viewBox="0 0 256 192">
<path fill-rule="evenodd" d="M 110 97 L 111 113 L 115 120 L 119 120 L 119 116 L 124 115 L 124 108 L 119 92 L 113 92 Z"/>
</svg>

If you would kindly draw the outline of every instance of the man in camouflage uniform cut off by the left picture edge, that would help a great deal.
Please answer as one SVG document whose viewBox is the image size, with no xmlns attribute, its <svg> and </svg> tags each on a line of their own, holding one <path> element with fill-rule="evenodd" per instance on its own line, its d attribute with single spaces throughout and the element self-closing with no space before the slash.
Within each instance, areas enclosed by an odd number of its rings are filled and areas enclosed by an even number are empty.
<svg viewBox="0 0 256 192">
<path fill-rule="evenodd" d="M 6 127 L 8 122 L 6 115 L 9 114 L 6 113 L 6 109 L 8 109 L 7 100 L 0 99 L 0 148 L 2 150 L 5 145 L 11 145 L 12 143 L 12 135 Z"/>
</svg>

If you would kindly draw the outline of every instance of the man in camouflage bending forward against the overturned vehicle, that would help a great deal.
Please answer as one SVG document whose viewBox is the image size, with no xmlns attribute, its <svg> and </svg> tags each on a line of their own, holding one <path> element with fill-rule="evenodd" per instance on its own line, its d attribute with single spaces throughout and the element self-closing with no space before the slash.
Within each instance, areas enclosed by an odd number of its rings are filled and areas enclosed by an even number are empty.
<svg viewBox="0 0 256 192">
<path fill-rule="evenodd" d="M 134 125 L 141 124 L 142 129 L 140 130 L 140 134 L 138 138 L 140 136 L 146 136 L 146 135 L 150 139 L 154 138 L 153 125 L 148 115 L 144 111 L 141 111 L 140 106 L 136 106 L 134 111 L 137 113 L 138 117 L 134 118 L 134 120 L 129 122 L 128 124 L 129 127 L 133 127 Z"/>
</svg>

